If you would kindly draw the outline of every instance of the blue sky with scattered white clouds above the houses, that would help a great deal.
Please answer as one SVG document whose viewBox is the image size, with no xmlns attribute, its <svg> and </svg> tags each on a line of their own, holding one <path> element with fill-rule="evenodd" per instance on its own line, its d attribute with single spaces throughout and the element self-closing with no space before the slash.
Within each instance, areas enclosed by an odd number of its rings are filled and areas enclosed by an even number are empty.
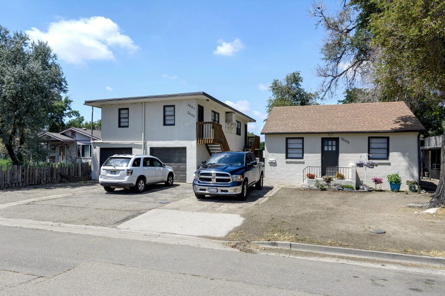
<svg viewBox="0 0 445 296">
<path fill-rule="evenodd" d="M 300 71 L 306 91 L 321 82 L 314 69 L 322 63 L 324 31 L 310 6 L 307 0 L 0 0 L 0 25 L 48 42 L 73 109 L 88 121 L 85 100 L 202 91 L 256 119 L 249 131 L 259 135 L 274 79 Z"/>
</svg>

